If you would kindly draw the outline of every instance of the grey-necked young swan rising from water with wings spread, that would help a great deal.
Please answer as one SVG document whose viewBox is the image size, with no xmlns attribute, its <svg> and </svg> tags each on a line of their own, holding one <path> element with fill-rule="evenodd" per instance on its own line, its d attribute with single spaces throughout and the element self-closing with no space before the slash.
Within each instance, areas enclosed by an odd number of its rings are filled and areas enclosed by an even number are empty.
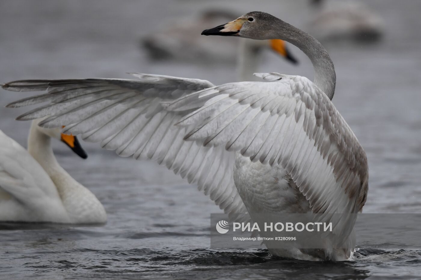
<svg viewBox="0 0 421 280">
<path fill-rule="evenodd" d="M 133 74 L 138 79 L 19 80 L 10 91 L 47 91 L 7 105 L 46 103 L 21 116 L 45 128 L 166 166 L 225 213 L 341 213 L 326 242 L 344 249 L 268 248 L 304 260 L 352 257 L 355 215 L 368 191 L 367 157 L 330 101 L 333 62 L 311 35 L 264 12 L 250 12 L 203 35 L 280 39 L 312 61 L 306 77 L 256 73 L 261 82 L 215 86 L 202 79 Z M 330 238 L 330 237 L 329 237 Z M 335 239 L 336 238 L 336 239 Z M 333 247 L 335 248 L 335 247 Z"/>
</svg>

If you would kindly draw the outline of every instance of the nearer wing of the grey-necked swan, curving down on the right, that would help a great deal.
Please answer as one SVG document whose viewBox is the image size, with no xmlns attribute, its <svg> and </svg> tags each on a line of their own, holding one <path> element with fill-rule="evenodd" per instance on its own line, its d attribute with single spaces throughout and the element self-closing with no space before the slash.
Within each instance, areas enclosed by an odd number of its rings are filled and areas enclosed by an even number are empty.
<svg viewBox="0 0 421 280">
<path fill-rule="evenodd" d="M 187 110 L 178 127 L 194 128 L 185 140 L 224 145 L 252 161 L 280 164 L 291 175 L 313 213 L 344 213 L 337 233 L 352 231 L 368 190 L 365 152 L 333 103 L 304 77 L 257 74 L 275 82 L 229 83 L 184 96 L 167 107 Z"/>
</svg>

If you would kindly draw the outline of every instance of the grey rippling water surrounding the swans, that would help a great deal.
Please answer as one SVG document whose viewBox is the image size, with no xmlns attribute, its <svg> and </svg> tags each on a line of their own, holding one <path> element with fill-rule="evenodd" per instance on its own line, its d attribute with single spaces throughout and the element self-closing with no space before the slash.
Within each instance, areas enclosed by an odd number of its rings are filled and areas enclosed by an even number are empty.
<svg viewBox="0 0 421 280">
<path fill-rule="evenodd" d="M 241 15 L 261 10 L 306 28 L 307 2 L 212 1 Z M 284 1 L 285 2 L 285 1 Z M 338 84 L 335 106 L 367 152 L 367 213 L 421 213 L 421 22 L 418 0 L 367 1 L 386 34 L 374 45 L 327 43 Z M 201 1 L 0 2 L 0 81 L 30 78 L 128 77 L 137 71 L 209 79 L 236 79 L 234 66 L 149 61 L 139 37 L 210 6 Z M 276 13 L 274 12 L 276 11 Z M 210 26 L 213 27 L 213 26 Z M 308 60 L 291 66 L 272 53 L 259 71 L 312 77 Z M 0 102 L 27 96 L 2 91 Z M 0 110 L 0 129 L 26 146 L 23 110 Z M 219 213 L 195 186 L 152 162 L 134 162 L 83 143 L 83 161 L 55 143 L 60 164 L 104 204 L 103 227 L 0 225 L 0 277 L 42 279 L 418 279 L 421 251 L 358 248 L 353 262 L 276 259 L 264 248 L 210 249 L 210 213 Z M 357 244 L 358 246 L 358 244 Z"/>
</svg>

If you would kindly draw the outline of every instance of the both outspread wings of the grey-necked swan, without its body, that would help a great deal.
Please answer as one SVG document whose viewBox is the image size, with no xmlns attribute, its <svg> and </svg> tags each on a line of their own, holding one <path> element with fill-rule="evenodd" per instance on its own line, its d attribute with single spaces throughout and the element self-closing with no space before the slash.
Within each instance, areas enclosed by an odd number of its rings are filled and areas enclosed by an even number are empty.
<svg viewBox="0 0 421 280">
<path fill-rule="evenodd" d="M 66 125 L 65 132 L 101 141 L 121 156 L 157 160 L 197 183 L 228 213 L 245 211 L 232 180 L 234 152 L 280 164 L 314 213 L 326 219 L 344 213 L 335 231 L 351 232 L 351 213 L 366 199 L 367 159 L 342 116 L 311 81 L 268 73 L 258 76 L 273 82 L 211 87 L 200 80 L 138 76 L 141 81 L 29 80 L 3 88 L 48 90 L 9 107 L 49 101 L 18 119 L 49 116 L 40 125 Z"/>
</svg>

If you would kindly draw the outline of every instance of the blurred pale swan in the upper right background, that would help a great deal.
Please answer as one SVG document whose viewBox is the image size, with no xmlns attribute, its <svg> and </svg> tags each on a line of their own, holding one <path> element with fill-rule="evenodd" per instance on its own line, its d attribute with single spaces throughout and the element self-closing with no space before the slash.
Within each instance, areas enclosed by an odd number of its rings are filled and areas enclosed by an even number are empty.
<svg viewBox="0 0 421 280">
<path fill-rule="evenodd" d="M 380 16 L 357 0 L 312 0 L 316 15 L 309 32 L 319 40 L 358 40 L 375 42 L 384 33 Z"/>
</svg>

